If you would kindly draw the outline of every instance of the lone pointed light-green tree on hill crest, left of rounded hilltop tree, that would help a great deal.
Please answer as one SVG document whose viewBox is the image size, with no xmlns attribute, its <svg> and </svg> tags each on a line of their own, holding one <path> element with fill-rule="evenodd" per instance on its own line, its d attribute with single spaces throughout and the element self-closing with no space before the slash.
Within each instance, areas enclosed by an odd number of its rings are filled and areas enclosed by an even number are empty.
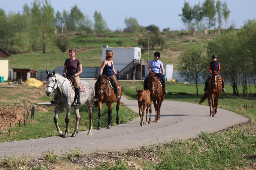
<svg viewBox="0 0 256 170">
<path fill-rule="evenodd" d="M 106 23 L 106 20 L 102 18 L 102 15 L 100 12 L 95 11 L 93 18 L 94 18 L 94 31 L 96 33 L 103 33 L 108 30 L 108 25 Z"/>
</svg>

